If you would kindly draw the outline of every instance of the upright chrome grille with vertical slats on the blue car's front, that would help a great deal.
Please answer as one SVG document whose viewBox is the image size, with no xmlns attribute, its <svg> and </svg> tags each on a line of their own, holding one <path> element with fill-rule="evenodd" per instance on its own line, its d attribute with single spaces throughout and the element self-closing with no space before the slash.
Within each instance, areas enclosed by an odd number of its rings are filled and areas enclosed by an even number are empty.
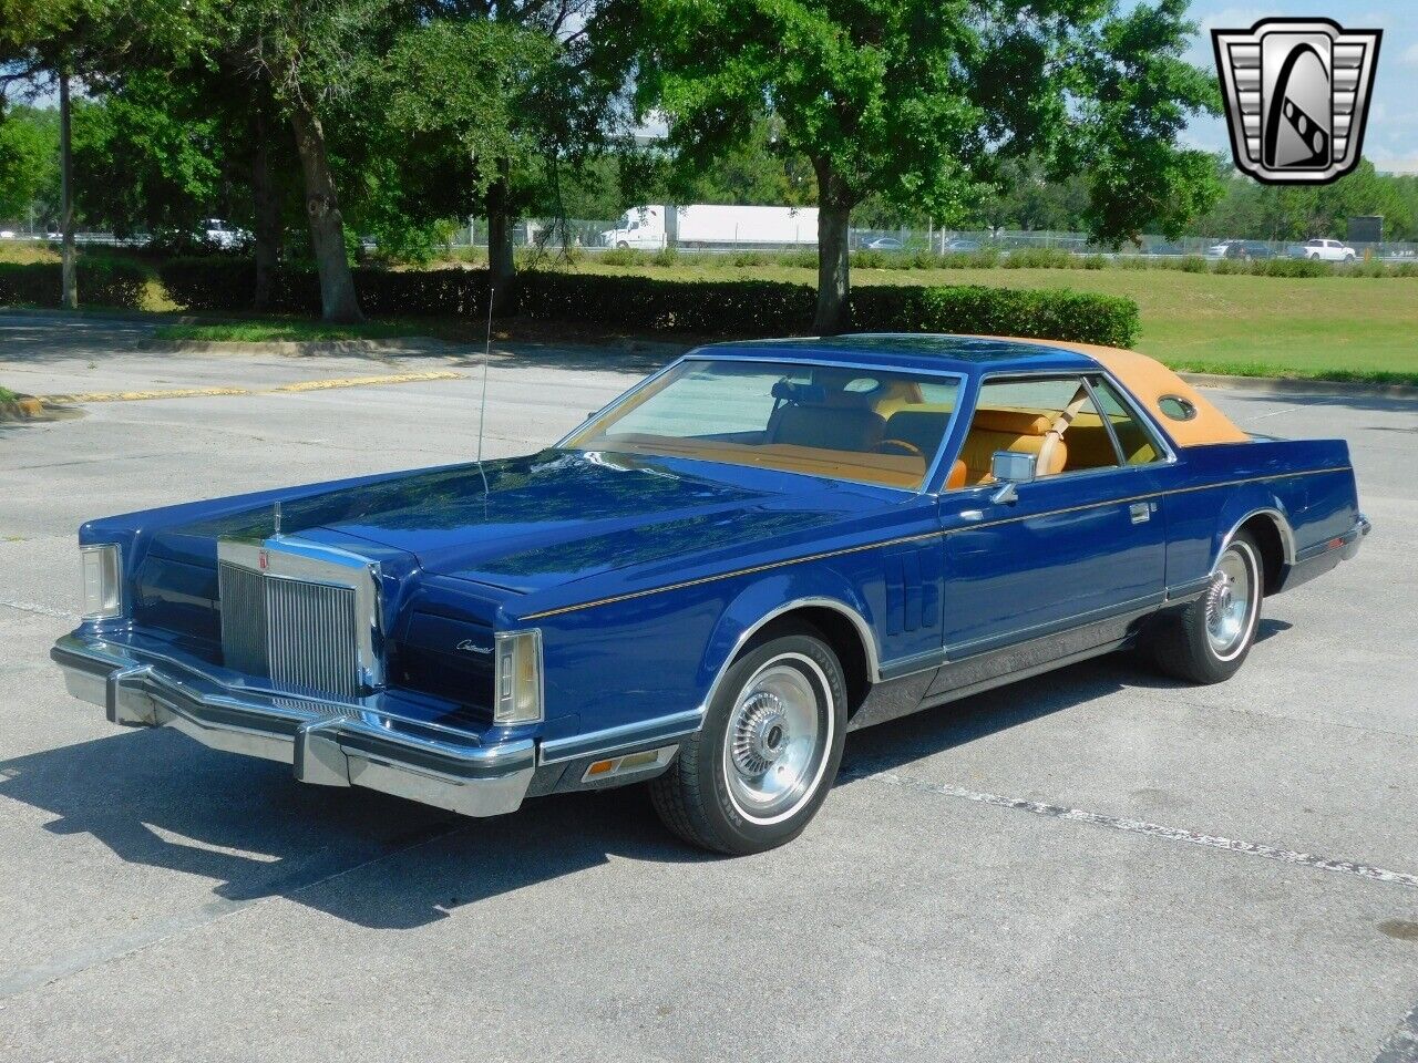
<svg viewBox="0 0 1418 1063">
<path fill-rule="evenodd" d="M 217 581 L 227 668 L 269 679 L 291 693 L 360 696 L 354 587 L 274 575 L 225 560 L 218 563 Z"/>
</svg>

